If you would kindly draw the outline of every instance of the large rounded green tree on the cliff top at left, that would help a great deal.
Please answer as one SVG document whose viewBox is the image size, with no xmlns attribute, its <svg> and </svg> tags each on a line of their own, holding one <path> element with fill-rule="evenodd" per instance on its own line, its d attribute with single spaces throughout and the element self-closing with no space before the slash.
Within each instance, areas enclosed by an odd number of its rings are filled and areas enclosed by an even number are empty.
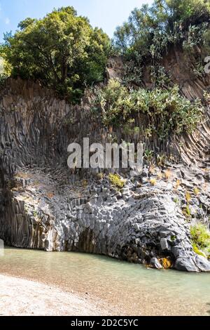
<svg viewBox="0 0 210 330">
<path fill-rule="evenodd" d="M 18 27 L 1 45 L 12 77 L 41 81 L 74 99 L 86 84 L 104 78 L 109 37 L 73 7 L 54 10 L 41 20 L 27 18 Z"/>
</svg>

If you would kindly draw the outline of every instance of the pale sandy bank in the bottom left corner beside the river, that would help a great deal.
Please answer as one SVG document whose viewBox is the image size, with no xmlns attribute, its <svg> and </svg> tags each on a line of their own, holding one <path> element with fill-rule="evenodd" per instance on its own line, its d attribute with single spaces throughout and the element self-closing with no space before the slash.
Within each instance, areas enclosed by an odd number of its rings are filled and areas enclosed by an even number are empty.
<svg viewBox="0 0 210 330">
<path fill-rule="evenodd" d="M 110 315 L 102 301 L 38 282 L 0 275 L 0 315 Z"/>
</svg>

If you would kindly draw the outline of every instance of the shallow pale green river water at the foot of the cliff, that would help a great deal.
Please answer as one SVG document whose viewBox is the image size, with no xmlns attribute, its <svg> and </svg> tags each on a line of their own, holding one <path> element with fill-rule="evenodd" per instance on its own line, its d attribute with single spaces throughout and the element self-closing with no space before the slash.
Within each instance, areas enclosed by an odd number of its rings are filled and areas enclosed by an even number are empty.
<svg viewBox="0 0 210 330">
<path fill-rule="evenodd" d="M 0 273 L 102 298 L 124 315 L 210 315 L 210 274 L 151 270 L 85 253 L 5 249 Z"/>
</svg>

